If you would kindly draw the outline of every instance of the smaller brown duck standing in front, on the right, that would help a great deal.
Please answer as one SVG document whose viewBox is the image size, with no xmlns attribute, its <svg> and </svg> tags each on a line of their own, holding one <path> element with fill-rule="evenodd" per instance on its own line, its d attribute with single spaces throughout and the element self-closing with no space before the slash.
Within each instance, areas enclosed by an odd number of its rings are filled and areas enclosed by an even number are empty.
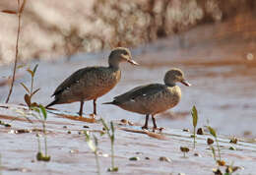
<svg viewBox="0 0 256 175">
<path fill-rule="evenodd" d="M 115 96 L 111 102 L 122 109 L 146 115 L 145 125 L 142 129 L 148 129 L 149 116 L 152 115 L 154 130 L 158 129 L 155 115 L 178 104 L 181 98 L 181 90 L 176 83 L 182 83 L 189 87 L 181 70 L 170 69 L 164 76 L 164 85 L 150 84 L 135 87 L 126 93 Z"/>
</svg>

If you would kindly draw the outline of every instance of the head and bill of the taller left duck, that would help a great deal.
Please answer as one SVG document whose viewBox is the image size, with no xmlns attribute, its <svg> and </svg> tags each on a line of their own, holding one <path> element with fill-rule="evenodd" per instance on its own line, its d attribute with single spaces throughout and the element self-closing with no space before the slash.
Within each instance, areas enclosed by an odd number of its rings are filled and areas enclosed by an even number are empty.
<svg viewBox="0 0 256 175">
<path fill-rule="evenodd" d="M 108 57 L 108 64 L 109 66 L 118 68 L 119 63 L 121 62 L 129 62 L 132 65 L 139 65 L 132 59 L 131 52 L 128 48 L 117 47 L 111 51 Z"/>
</svg>

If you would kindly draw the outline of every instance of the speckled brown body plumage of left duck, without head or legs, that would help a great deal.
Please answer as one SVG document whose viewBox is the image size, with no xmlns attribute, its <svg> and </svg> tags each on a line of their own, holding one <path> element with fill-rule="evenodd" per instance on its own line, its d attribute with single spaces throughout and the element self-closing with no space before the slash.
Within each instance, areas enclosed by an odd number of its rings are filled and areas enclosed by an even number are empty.
<svg viewBox="0 0 256 175">
<path fill-rule="evenodd" d="M 120 78 L 121 71 L 119 69 L 84 68 L 66 79 L 56 88 L 53 95 L 59 99 L 56 104 L 96 99 L 115 87 Z"/>
</svg>

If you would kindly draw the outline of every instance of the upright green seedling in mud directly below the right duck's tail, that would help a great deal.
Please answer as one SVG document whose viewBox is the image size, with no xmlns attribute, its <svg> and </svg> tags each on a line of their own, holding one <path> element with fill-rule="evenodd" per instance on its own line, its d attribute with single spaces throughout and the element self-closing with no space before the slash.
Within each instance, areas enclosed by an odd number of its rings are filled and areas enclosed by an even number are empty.
<svg viewBox="0 0 256 175">
<path fill-rule="evenodd" d="M 111 172 L 118 171 L 118 167 L 116 167 L 114 165 L 114 140 L 115 140 L 115 137 L 114 137 L 113 122 L 112 121 L 110 122 L 110 129 L 109 129 L 109 127 L 106 125 L 105 121 L 102 118 L 100 119 L 100 121 L 103 125 L 104 130 L 107 133 L 108 138 L 111 141 L 111 168 L 108 168 L 107 170 L 111 171 Z"/>
</svg>

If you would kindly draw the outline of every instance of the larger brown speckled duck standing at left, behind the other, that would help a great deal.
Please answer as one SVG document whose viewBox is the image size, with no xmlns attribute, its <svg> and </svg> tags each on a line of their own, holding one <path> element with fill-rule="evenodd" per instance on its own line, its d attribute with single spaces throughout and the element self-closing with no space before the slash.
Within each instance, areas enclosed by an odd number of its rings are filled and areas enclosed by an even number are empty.
<svg viewBox="0 0 256 175">
<path fill-rule="evenodd" d="M 120 62 L 138 65 L 132 60 L 129 49 L 117 47 L 108 57 L 108 67 L 87 67 L 78 70 L 55 89 L 52 94 L 55 99 L 46 107 L 80 101 L 79 115 L 82 116 L 84 101 L 94 100 L 96 115 L 96 99 L 115 87 L 121 78 Z"/>
</svg>

